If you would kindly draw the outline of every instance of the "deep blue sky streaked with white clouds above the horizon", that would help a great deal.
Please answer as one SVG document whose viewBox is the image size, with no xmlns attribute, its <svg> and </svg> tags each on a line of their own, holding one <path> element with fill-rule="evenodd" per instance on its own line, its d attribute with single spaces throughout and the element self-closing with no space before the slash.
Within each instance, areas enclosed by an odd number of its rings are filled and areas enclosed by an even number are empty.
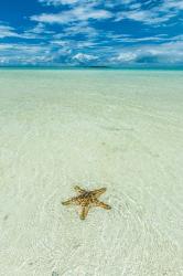
<svg viewBox="0 0 183 276">
<path fill-rule="evenodd" d="M 0 0 L 0 66 L 182 66 L 183 0 Z"/>
</svg>

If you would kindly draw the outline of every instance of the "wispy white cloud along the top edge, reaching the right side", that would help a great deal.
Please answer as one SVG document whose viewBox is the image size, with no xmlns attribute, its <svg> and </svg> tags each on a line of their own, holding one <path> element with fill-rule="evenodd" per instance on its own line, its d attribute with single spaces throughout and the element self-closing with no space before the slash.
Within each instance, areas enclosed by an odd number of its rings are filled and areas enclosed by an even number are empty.
<svg viewBox="0 0 183 276">
<path fill-rule="evenodd" d="M 47 6 L 66 4 L 71 10 L 61 13 L 42 13 L 33 15 L 32 20 L 45 23 L 69 23 L 87 21 L 89 19 L 103 20 L 115 18 L 116 21 L 125 19 L 139 21 L 144 24 L 158 25 L 166 23 L 183 10 L 183 0 L 143 1 L 138 0 L 39 0 Z M 103 7 L 103 8 L 101 8 Z M 114 8 L 118 12 L 114 12 Z"/>
</svg>

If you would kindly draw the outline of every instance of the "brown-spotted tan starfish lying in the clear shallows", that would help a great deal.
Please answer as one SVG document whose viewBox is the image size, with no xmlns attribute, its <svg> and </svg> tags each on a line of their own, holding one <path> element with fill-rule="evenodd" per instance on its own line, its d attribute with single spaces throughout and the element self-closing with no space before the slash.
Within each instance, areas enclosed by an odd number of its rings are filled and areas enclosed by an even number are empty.
<svg viewBox="0 0 183 276">
<path fill-rule="evenodd" d="M 80 220 L 85 220 L 88 214 L 88 211 L 92 206 L 100 206 L 106 210 L 110 210 L 111 206 L 98 200 L 98 198 L 106 192 L 106 188 L 101 188 L 94 191 L 87 191 L 79 188 L 78 185 L 74 187 L 75 191 L 78 193 L 77 197 L 71 198 L 67 201 L 62 202 L 63 205 L 76 204 L 82 206 Z"/>
</svg>

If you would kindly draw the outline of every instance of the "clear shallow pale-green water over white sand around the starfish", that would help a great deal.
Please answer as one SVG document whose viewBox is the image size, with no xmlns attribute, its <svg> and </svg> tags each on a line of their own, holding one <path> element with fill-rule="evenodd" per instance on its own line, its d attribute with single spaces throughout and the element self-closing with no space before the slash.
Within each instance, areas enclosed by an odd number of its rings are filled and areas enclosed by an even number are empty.
<svg viewBox="0 0 183 276">
<path fill-rule="evenodd" d="M 183 72 L 0 71 L 0 275 L 183 275 Z M 61 201 L 106 187 L 110 211 Z"/>
</svg>

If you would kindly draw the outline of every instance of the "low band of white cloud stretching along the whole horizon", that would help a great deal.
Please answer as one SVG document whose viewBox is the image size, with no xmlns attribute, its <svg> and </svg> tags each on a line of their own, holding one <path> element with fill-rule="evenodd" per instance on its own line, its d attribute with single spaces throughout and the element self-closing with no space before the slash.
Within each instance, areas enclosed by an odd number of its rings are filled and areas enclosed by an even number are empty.
<svg viewBox="0 0 183 276">
<path fill-rule="evenodd" d="M 87 44 L 88 43 L 88 44 Z M 89 47 L 86 52 L 86 47 Z M 94 46 L 94 47 L 93 47 Z M 183 64 L 183 36 L 176 35 L 162 44 L 146 44 L 128 47 L 96 47 L 89 42 L 53 41 L 51 44 L 30 45 L 0 44 L 0 61 L 3 64 Z"/>
</svg>

